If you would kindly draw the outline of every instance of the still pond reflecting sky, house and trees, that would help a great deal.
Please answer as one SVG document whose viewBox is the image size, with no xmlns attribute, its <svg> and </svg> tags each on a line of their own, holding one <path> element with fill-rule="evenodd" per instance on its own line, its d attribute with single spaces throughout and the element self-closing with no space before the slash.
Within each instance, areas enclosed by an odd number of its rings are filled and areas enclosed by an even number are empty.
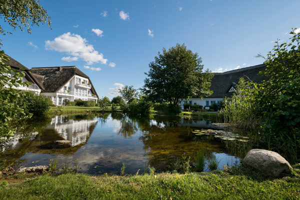
<svg viewBox="0 0 300 200">
<path fill-rule="evenodd" d="M 17 168 L 48 165 L 50 159 L 58 159 L 59 166 L 64 163 L 75 166 L 78 159 L 80 172 L 102 174 L 117 173 L 123 162 L 125 173 L 135 174 L 138 170 L 144 172 L 148 165 L 156 172 L 172 171 L 183 153 L 195 163 L 199 149 L 205 159 L 215 155 L 219 169 L 224 164 L 239 164 L 239 158 L 228 152 L 224 141 L 193 133 L 195 129 L 212 128 L 215 122 L 213 119 L 122 113 L 32 118 L 24 122 L 11 141 L 0 145 L 0 164 Z M 69 146 L 48 145 L 56 140 L 68 140 Z M 204 171 L 207 170 L 206 163 Z"/>
</svg>

